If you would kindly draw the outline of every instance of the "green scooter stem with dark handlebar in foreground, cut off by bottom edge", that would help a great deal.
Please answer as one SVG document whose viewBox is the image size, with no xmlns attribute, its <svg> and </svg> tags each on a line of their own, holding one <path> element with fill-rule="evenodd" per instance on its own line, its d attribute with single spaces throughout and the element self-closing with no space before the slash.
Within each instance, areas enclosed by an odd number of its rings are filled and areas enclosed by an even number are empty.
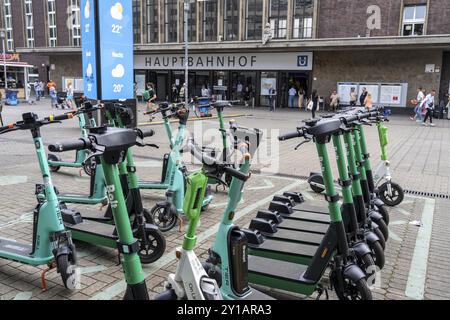
<svg viewBox="0 0 450 320">
<path fill-rule="evenodd" d="M 111 204 L 113 221 L 116 226 L 116 248 L 121 259 L 122 268 L 127 283 L 125 300 L 148 300 L 148 291 L 142 265 L 139 261 L 141 246 L 134 237 L 130 223 L 129 212 L 119 178 L 118 164 L 125 161 L 128 150 L 143 144 L 142 139 L 153 135 L 153 131 L 99 127 L 91 128 L 88 138 L 54 145 L 52 149 L 60 151 L 88 150 L 100 158 Z"/>
</svg>

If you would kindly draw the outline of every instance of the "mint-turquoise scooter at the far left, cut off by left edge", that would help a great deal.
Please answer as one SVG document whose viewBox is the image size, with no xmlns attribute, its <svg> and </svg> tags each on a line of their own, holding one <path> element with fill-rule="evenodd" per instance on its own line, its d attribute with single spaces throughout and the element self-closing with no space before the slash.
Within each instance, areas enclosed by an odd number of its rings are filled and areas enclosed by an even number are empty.
<svg viewBox="0 0 450 320">
<path fill-rule="evenodd" d="M 37 189 L 44 190 L 44 197 L 33 211 L 32 244 L 23 244 L 15 240 L 0 238 L 0 257 L 20 263 L 40 266 L 48 265 L 42 274 L 42 286 L 45 289 L 45 273 L 56 267 L 61 274 L 64 286 L 75 289 L 78 284 L 76 276 L 76 249 L 69 231 L 66 231 L 61 218 L 58 198 L 50 176 L 50 169 L 44 150 L 40 128 L 56 123 L 58 117 L 39 120 L 34 113 L 24 113 L 23 121 L 0 127 L 0 134 L 17 130 L 30 130 L 39 161 L 43 184 Z M 68 210 L 67 211 L 71 211 Z"/>
</svg>

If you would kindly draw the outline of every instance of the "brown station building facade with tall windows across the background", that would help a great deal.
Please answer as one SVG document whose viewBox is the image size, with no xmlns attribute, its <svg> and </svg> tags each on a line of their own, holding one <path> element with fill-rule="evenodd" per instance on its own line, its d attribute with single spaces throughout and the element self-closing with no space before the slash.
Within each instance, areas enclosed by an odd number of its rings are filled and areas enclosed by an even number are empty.
<svg viewBox="0 0 450 320">
<path fill-rule="evenodd" d="M 0 0 L 7 49 L 33 65 L 29 76 L 82 88 L 79 0 Z M 184 83 L 181 0 L 133 0 L 135 80 L 160 100 Z M 278 107 L 289 89 L 327 100 L 368 87 L 376 101 L 405 108 L 417 87 L 450 90 L 450 7 L 445 0 L 190 1 L 189 92 Z"/>
</svg>

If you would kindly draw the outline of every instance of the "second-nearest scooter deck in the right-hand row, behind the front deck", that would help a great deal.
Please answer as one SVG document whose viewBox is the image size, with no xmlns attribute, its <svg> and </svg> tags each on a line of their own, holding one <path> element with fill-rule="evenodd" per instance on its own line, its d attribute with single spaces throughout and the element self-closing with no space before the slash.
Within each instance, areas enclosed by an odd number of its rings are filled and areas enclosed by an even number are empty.
<svg viewBox="0 0 450 320">
<path fill-rule="evenodd" d="M 249 255 L 308 265 L 318 245 L 265 239 L 259 245 L 248 245 Z"/>
</svg>

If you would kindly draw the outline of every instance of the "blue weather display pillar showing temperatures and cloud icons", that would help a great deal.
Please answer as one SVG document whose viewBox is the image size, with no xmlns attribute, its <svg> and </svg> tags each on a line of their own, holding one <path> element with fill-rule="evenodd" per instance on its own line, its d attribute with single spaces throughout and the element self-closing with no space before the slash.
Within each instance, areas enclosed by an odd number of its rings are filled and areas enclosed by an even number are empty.
<svg viewBox="0 0 450 320">
<path fill-rule="evenodd" d="M 84 92 L 90 99 L 132 99 L 132 0 L 82 0 Z"/>
</svg>

